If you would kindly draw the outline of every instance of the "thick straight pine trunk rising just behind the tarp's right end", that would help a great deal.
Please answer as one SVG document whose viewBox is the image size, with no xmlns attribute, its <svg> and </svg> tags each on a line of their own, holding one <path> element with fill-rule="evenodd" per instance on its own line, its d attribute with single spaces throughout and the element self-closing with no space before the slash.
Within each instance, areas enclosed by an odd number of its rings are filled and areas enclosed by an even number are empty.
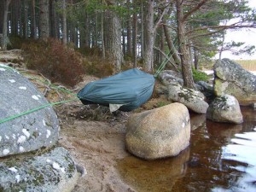
<svg viewBox="0 0 256 192">
<path fill-rule="evenodd" d="M 154 55 L 154 0 L 147 2 L 145 18 L 145 49 L 143 59 L 147 72 L 153 72 Z"/>
</svg>

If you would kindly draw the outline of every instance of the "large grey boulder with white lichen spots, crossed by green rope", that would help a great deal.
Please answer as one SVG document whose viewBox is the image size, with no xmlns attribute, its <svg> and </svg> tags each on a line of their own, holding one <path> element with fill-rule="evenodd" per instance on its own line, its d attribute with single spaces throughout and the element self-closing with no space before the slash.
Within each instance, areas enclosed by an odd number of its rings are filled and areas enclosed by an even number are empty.
<svg viewBox="0 0 256 192">
<path fill-rule="evenodd" d="M 26 113 L 49 104 L 36 87 L 5 65 L 0 65 L 0 86 L 0 157 L 54 145 L 59 123 L 53 108 Z"/>
</svg>

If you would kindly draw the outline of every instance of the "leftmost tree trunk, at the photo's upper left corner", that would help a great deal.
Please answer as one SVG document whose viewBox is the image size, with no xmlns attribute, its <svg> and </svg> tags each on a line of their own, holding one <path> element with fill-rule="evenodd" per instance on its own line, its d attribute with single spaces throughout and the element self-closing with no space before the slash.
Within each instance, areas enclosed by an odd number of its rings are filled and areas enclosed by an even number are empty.
<svg viewBox="0 0 256 192">
<path fill-rule="evenodd" d="M 7 49 L 7 32 L 8 32 L 8 9 L 9 9 L 9 3 L 11 0 L 4 0 L 3 2 L 3 40 L 2 40 L 2 49 Z"/>
</svg>

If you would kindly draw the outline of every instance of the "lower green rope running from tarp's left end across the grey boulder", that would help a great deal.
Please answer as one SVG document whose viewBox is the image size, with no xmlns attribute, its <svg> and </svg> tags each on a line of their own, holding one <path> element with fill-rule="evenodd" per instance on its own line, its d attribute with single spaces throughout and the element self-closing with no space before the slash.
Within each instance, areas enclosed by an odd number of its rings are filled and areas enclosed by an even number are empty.
<svg viewBox="0 0 256 192">
<path fill-rule="evenodd" d="M 45 105 L 39 106 L 38 108 L 32 108 L 32 109 L 27 110 L 27 111 L 25 111 L 23 113 L 15 114 L 15 115 L 9 116 L 8 118 L 1 119 L 0 120 L 0 124 L 5 123 L 5 122 L 7 122 L 9 120 L 12 120 L 12 119 L 19 118 L 19 117 L 21 117 L 23 115 L 36 112 L 36 111 L 38 111 L 38 110 L 40 110 L 42 108 L 47 108 L 49 106 L 59 105 L 59 104 L 63 104 L 63 103 L 66 103 L 66 102 L 73 102 L 73 101 L 76 101 L 76 100 L 79 100 L 79 98 L 73 98 L 73 99 L 69 99 L 69 100 L 65 100 L 65 101 L 61 101 L 61 102 L 50 102 L 50 103 L 47 103 Z"/>
</svg>

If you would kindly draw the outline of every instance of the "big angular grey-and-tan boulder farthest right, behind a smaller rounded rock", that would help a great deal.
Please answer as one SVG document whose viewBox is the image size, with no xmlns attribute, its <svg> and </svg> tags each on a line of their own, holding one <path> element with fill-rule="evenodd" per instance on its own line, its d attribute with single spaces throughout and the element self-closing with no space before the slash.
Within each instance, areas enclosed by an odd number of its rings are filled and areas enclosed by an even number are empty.
<svg viewBox="0 0 256 192">
<path fill-rule="evenodd" d="M 235 96 L 240 105 L 256 102 L 256 76 L 229 59 L 218 60 L 214 67 L 214 92 Z"/>
</svg>

